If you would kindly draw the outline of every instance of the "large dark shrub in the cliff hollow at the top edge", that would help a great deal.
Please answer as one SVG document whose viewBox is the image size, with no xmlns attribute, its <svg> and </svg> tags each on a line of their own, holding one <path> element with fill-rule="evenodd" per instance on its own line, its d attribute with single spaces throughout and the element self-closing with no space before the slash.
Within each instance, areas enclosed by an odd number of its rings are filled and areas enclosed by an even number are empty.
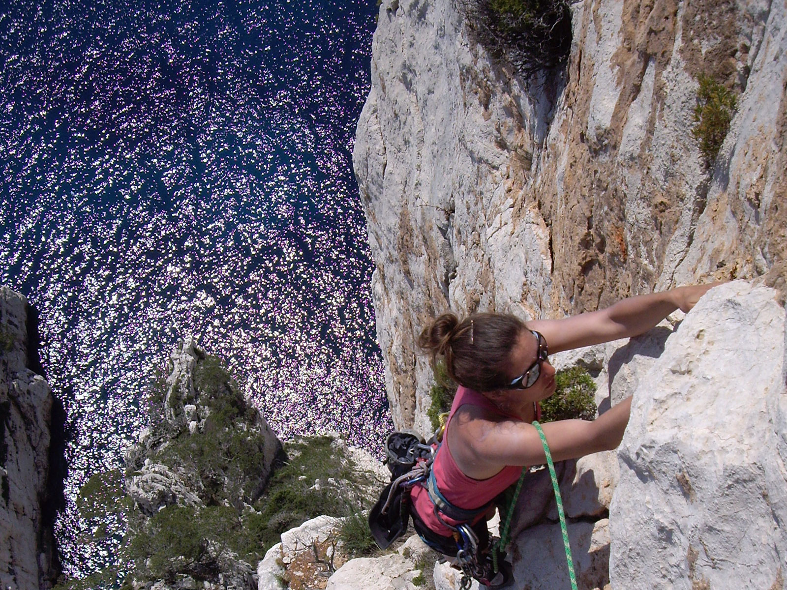
<svg viewBox="0 0 787 590">
<path fill-rule="evenodd" d="M 565 65 L 571 51 L 567 0 L 464 0 L 475 37 L 530 78 Z"/>
</svg>

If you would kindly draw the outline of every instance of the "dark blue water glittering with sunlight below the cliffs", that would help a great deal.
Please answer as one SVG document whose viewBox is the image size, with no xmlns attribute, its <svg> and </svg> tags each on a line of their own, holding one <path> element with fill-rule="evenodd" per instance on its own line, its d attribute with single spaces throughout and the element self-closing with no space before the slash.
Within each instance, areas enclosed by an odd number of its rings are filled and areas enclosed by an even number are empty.
<svg viewBox="0 0 787 590">
<path fill-rule="evenodd" d="M 21 2 L 0 13 L 0 282 L 41 315 L 74 499 L 120 466 L 179 337 L 282 437 L 390 428 L 351 169 L 374 0 Z"/>
</svg>

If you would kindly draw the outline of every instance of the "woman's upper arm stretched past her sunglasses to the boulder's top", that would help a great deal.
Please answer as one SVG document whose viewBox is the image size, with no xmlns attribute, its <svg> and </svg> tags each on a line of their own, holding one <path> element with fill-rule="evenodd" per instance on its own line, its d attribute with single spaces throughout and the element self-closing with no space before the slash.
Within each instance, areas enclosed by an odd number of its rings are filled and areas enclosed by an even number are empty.
<svg viewBox="0 0 787 590">
<path fill-rule="evenodd" d="M 628 297 L 597 312 L 565 319 L 537 319 L 528 322 L 527 326 L 544 334 L 549 352 L 637 336 L 678 308 L 688 312 L 708 289 L 719 284 L 690 285 L 663 293 Z"/>
</svg>

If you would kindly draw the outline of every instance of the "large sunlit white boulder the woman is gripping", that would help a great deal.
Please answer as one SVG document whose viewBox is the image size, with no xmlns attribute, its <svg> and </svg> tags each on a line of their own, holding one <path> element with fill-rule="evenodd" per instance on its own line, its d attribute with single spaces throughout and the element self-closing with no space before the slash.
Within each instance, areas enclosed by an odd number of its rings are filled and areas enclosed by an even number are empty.
<svg viewBox="0 0 787 590">
<path fill-rule="evenodd" d="M 634 393 L 611 503 L 613 588 L 785 588 L 785 309 L 711 290 Z"/>
</svg>

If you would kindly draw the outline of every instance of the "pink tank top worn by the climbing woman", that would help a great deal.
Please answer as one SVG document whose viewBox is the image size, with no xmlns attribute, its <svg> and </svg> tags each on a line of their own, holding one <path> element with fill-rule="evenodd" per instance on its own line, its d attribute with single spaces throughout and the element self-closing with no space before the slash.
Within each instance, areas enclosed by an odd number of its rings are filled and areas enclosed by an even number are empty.
<svg viewBox="0 0 787 590">
<path fill-rule="evenodd" d="M 446 500 L 456 507 L 473 510 L 482 507 L 486 503 L 490 503 L 504 489 L 517 481 L 519 479 L 519 474 L 522 473 L 522 466 L 505 466 L 499 473 L 486 479 L 469 478 L 460 470 L 459 466 L 456 465 L 456 462 L 453 460 L 453 455 L 451 455 L 451 450 L 449 448 L 448 427 L 456 410 L 466 404 L 485 407 L 491 411 L 497 412 L 497 414 L 501 414 L 501 411 L 490 400 L 482 396 L 481 393 L 460 385 L 459 389 L 456 390 L 456 396 L 453 398 L 448 421 L 445 423 L 442 448 L 434 458 L 432 470 L 434 471 L 434 479 L 437 481 L 438 489 L 442 495 L 445 496 Z M 541 408 L 537 406 L 537 419 L 540 418 L 540 410 Z M 519 420 L 516 416 L 509 416 Z M 416 485 L 412 489 L 412 492 L 410 492 L 410 497 L 412 499 L 412 506 L 415 508 L 416 513 L 419 518 L 423 520 L 424 524 L 434 531 L 434 533 L 438 533 L 438 535 L 444 535 L 445 537 L 451 535 L 451 529 L 443 525 L 434 515 L 434 504 L 429 499 L 429 493 L 426 487 Z M 478 518 L 475 518 L 474 524 L 483 517 L 484 515 L 481 514 Z M 442 514 L 441 518 L 451 525 L 457 524 L 455 520 L 446 518 Z"/>
</svg>

